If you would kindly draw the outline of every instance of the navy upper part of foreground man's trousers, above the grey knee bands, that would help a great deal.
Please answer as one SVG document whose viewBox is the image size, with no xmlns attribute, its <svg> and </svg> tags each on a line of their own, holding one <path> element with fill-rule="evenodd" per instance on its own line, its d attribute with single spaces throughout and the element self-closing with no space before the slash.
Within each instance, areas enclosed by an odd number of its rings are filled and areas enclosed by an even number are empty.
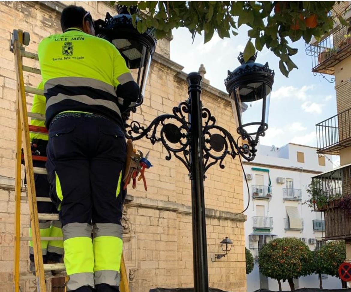
<svg viewBox="0 0 351 292">
<path fill-rule="evenodd" d="M 47 158 L 51 196 L 60 208 L 62 226 L 121 224 L 125 192 L 116 194 L 116 190 L 124 172 L 126 140 L 118 125 L 85 113 L 57 119 L 49 128 Z M 57 178 L 62 201 L 57 195 Z"/>
</svg>

